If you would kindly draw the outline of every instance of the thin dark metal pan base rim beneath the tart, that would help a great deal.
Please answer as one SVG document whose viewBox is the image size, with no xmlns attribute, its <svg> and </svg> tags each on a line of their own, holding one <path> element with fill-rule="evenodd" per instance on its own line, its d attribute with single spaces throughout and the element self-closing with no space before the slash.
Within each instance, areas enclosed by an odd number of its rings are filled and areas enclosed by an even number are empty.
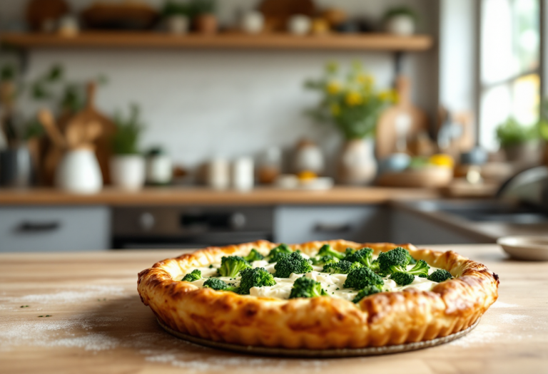
<svg viewBox="0 0 548 374">
<path fill-rule="evenodd" d="M 269 348 L 261 346 L 241 346 L 240 344 L 222 343 L 218 341 L 210 341 L 208 339 L 198 338 L 191 336 L 180 331 L 173 330 L 166 326 L 161 319 L 156 318 L 158 324 L 165 331 L 170 333 L 183 341 L 198 344 L 198 346 L 204 346 L 207 348 L 214 348 L 220 350 L 228 350 L 235 353 L 243 353 L 248 355 L 261 355 L 261 356 L 273 356 L 273 357 L 290 357 L 290 358 L 344 358 L 344 357 L 361 357 L 369 355 L 390 355 L 393 353 L 410 352 L 412 350 L 420 350 L 441 344 L 455 341 L 458 338 L 462 338 L 470 331 L 474 330 L 481 318 L 477 318 L 472 326 L 465 328 L 464 330 L 452 333 L 448 336 L 442 336 L 440 338 L 431 339 L 430 341 L 417 341 L 415 343 L 397 344 L 394 346 L 382 346 L 382 347 L 368 347 L 368 348 L 341 348 L 341 349 L 287 349 L 287 348 Z"/>
</svg>

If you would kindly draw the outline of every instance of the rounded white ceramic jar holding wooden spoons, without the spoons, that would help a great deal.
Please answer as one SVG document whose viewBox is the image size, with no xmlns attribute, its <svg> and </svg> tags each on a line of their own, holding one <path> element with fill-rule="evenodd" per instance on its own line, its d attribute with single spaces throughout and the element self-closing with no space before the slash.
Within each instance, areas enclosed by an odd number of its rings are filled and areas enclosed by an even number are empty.
<svg viewBox="0 0 548 374">
<path fill-rule="evenodd" d="M 57 166 L 55 184 L 65 191 L 77 194 L 101 191 L 103 175 L 95 152 L 88 148 L 66 152 Z"/>
</svg>

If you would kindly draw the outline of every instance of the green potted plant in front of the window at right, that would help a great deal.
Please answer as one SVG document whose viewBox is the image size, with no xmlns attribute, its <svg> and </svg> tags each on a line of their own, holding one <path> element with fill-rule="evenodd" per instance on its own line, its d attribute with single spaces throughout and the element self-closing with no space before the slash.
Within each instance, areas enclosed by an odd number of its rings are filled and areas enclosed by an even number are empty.
<svg viewBox="0 0 548 374">
<path fill-rule="evenodd" d="M 538 160 L 539 127 L 526 126 L 515 118 L 508 118 L 496 130 L 499 145 L 508 161 Z"/>
</svg>

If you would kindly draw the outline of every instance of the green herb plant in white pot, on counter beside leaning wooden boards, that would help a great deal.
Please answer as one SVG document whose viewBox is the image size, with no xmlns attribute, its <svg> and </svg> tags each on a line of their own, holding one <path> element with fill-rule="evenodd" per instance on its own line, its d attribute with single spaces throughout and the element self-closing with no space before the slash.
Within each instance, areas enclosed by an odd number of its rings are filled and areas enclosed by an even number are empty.
<svg viewBox="0 0 548 374">
<path fill-rule="evenodd" d="M 141 189 L 145 182 L 145 159 L 138 151 L 139 137 L 144 129 L 139 113 L 139 107 L 131 105 L 127 118 L 120 113 L 113 118 L 116 133 L 112 138 L 111 180 L 122 189 Z"/>
</svg>

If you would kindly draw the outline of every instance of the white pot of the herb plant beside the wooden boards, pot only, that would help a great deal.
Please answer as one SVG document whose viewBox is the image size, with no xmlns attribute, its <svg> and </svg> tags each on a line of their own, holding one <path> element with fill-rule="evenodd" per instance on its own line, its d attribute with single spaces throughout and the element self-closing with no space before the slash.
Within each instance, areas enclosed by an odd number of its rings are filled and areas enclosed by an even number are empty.
<svg viewBox="0 0 548 374">
<path fill-rule="evenodd" d="M 136 191 L 145 184 L 145 159 L 141 155 L 111 158 L 111 181 L 115 187 Z"/>
</svg>

